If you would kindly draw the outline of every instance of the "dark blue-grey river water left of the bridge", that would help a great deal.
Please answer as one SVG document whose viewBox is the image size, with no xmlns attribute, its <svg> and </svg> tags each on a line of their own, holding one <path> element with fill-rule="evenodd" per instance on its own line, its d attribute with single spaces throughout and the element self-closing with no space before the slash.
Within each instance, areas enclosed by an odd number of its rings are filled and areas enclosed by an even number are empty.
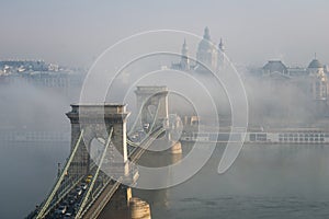
<svg viewBox="0 0 329 219">
<path fill-rule="evenodd" d="M 0 218 L 24 218 L 54 185 L 68 143 L 0 142 Z"/>
</svg>

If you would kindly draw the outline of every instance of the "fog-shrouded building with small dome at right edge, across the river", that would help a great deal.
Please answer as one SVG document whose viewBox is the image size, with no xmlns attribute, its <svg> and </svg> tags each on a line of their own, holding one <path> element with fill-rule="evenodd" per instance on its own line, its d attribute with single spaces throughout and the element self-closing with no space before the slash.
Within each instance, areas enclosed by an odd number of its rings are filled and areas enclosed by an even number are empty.
<svg viewBox="0 0 329 219">
<path fill-rule="evenodd" d="M 269 89 L 286 91 L 293 101 L 304 103 L 298 111 L 329 117 L 329 71 L 316 57 L 305 67 L 288 67 L 281 60 L 270 60 L 260 70 L 261 73 L 254 71 L 254 76 L 260 76 Z M 295 105 L 291 111 L 295 113 Z"/>
</svg>

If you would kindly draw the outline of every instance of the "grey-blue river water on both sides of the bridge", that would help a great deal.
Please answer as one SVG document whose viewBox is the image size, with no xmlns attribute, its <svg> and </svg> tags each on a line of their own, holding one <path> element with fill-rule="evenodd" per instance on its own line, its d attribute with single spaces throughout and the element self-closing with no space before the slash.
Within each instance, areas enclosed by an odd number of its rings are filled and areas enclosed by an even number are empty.
<svg viewBox="0 0 329 219">
<path fill-rule="evenodd" d="M 49 192 L 69 143 L 0 147 L 0 218 L 23 218 Z M 218 175 L 223 149 L 189 181 L 134 195 L 150 203 L 155 219 L 329 218 L 329 146 L 246 145 Z"/>
</svg>

